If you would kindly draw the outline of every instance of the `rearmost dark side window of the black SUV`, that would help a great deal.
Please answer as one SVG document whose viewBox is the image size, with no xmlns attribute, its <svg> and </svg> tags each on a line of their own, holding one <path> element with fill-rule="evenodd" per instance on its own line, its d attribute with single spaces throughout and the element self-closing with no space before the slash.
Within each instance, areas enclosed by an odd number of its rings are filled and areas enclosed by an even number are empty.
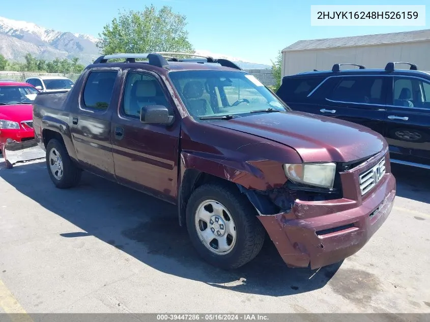
<svg viewBox="0 0 430 322">
<path fill-rule="evenodd" d="M 285 78 L 276 93 L 284 102 L 297 102 L 307 97 L 325 77 Z"/>
</svg>

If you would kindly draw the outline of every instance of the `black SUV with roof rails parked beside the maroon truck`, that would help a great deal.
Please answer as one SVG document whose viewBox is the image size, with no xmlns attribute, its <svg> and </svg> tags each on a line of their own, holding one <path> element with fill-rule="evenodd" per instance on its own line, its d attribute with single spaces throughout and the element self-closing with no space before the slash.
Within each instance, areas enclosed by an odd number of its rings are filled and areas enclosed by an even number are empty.
<svg viewBox="0 0 430 322">
<path fill-rule="evenodd" d="M 410 69 L 394 69 L 395 64 Z M 342 65 L 358 69 L 341 70 Z M 430 169 L 430 72 L 414 64 L 390 62 L 385 69 L 335 64 L 331 71 L 283 77 L 276 94 L 294 110 L 377 131 L 390 145 L 391 162 Z"/>
</svg>

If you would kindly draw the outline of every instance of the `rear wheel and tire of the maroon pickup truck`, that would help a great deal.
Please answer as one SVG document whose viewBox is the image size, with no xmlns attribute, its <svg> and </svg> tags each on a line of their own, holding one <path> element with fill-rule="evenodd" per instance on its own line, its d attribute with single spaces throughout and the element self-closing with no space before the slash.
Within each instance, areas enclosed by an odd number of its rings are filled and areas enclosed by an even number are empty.
<svg viewBox="0 0 430 322">
<path fill-rule="evenodd" d="M 57 161 L 61 164 L 60 168 L 56 168 L 57 171 L 54 171 L 55 163 L 52 162 L 52 158 L 55 156 L 59 157 Z M 51 162 L 53 164 L 51 164 Z M 80 181 L 82 170 L 76 166 L 72 159 L 70 159 L 64 144 L 57 139 L 49 140 L 48 144 L 46 145 L 46 167 L 48 169 L 49 177 L 51 177 L 52 182 L 57 188 L 72 188 L 75 187 Z"/>
</svg>

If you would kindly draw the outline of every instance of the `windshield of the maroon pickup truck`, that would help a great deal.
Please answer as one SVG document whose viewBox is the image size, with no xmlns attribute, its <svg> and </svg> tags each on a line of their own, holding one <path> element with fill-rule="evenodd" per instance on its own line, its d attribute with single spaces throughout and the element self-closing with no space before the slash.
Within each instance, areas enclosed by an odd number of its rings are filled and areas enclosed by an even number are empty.
<svg viewBox="0 0 430 322">
<path fill-rule="evenodd" d="M 196 120 L 290 110 L 250 74 L 197 70 L 171 71 L 169 77 L 188 112 Z"/>
</svg>

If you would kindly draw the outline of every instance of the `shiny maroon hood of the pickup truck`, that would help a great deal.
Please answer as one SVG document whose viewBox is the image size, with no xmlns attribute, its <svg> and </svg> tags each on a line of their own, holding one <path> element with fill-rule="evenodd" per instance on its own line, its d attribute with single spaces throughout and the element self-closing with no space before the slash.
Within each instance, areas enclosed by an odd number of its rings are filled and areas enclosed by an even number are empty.
<svg viewBox="0 0 430 322">
<path fill-rule="evenodd" d="M 380 152 L 385 139 L 367 127 L 305 112 L 272 112 L 212 123 L 288 145 L 303 162 L 349 162 Z"/>
</svg>

